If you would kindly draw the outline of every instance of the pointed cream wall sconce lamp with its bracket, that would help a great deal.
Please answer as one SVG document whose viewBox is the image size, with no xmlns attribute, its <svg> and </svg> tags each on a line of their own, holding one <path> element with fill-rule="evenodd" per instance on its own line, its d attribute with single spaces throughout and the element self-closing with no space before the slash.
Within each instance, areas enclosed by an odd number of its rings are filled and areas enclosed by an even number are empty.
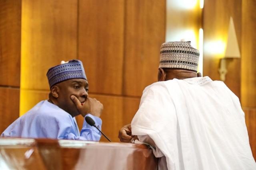
<svg viewBox="0 0 256 170">
<path fill-rule="evenodd" d="M 236 38 L 236 30 L 234 27 L 233 18 L 230 17 L 230 23 L 228 28 L 228 41 L 226 46 L 226 52 L 224 58 L 220 59 L 220 80 L 226 80 L 226 74 L 228 72 L 226 66 L 229 61 L 240 58 L 239 46 Z"/>
</svg>

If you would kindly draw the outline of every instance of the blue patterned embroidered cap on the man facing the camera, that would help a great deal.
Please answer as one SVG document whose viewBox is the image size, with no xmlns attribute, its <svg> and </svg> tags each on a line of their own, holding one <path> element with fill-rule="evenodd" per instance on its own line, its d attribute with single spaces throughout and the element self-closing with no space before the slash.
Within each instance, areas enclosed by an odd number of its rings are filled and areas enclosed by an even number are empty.
<svg viewBox="0 0 256 170">
<path fill-rule="evenodd" d="M 48 70 L 46 76 L 48 78 L 50 88 L 55 84 L 74 78 L 87 80 L 83 63 L 79 60 L 70 60 L 63 64 L 54 66 Z"/>
</svg>

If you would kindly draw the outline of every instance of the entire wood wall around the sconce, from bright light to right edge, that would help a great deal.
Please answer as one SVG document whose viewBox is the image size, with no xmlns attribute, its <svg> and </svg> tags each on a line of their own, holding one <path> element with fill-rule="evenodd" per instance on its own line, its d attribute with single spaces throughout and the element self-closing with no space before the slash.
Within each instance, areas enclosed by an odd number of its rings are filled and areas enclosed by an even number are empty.
<svg viewBox="0 0 256 170">
<path fill-rule="evenodd" d="M 241 59 L 228 61 L 226 85 L 240 98 L 245 112 L 250 145 L 256 159 L 256 67 L 254 45 L 256 2 L 250 0 L 205 0 L 203 11 L 204 27 L 204 75 L 219 79 L 220 57 L 208 53 L 207 43 L 226 41 L 230 16 L 233 17 Z M 218 50 L 218 49 L 217 49 Z"/>
</svg>

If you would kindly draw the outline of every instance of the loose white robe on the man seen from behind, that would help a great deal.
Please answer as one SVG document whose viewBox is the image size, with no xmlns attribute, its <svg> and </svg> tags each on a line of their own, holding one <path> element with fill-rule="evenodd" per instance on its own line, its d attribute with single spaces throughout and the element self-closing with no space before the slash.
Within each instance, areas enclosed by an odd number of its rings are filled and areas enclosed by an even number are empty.
<svg viewBox="0 0 256 170">
<path fill-rule="evenodd" d="M 221 81 L 206 76 L 151 84 L 131 125 L 156 157 L 165 156 L 161 169 L 256 170 L 239 99 Z"/>
</svg>

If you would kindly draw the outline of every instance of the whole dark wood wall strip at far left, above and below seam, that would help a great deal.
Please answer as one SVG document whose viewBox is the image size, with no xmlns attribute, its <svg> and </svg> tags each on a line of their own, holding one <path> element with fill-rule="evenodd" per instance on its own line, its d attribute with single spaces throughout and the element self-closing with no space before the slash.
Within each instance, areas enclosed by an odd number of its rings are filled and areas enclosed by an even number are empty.
<svg viewBox="0 0 256 170">
<path fill-rule="evenodd" d="M 21 0 L 0 0 L 0 133 L 19 117 Z"/>
</svg>

